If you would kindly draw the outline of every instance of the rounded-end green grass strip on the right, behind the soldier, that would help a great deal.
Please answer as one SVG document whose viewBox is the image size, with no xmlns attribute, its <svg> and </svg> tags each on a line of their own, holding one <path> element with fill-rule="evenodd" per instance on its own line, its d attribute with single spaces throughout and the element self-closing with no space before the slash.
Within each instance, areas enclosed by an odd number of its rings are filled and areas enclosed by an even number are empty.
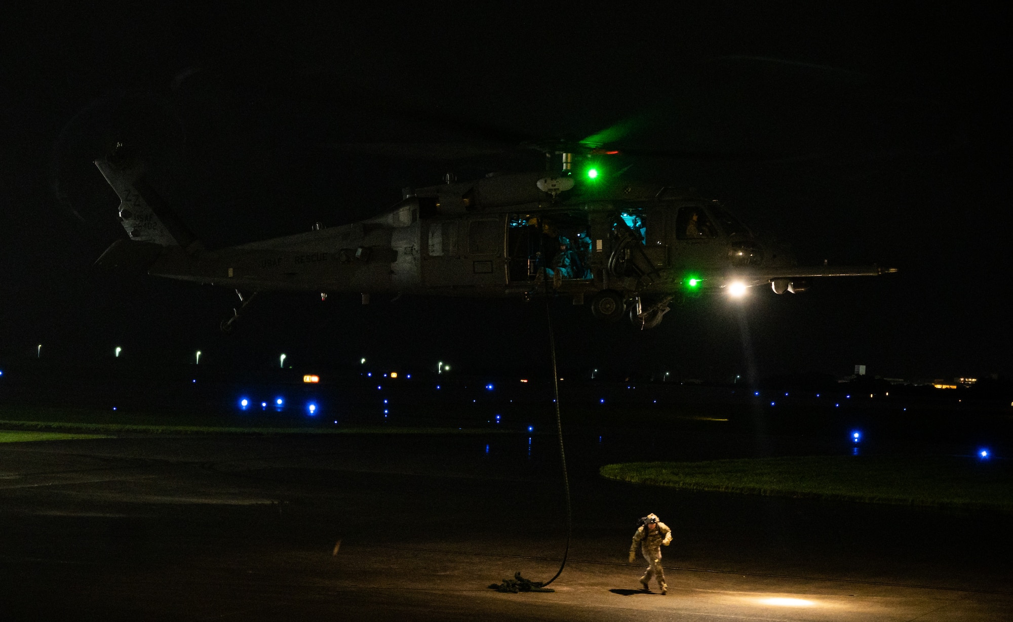
<svg viewBox="0 0 1013 622">
<path fill-rule="evenodd" d="M 960 456 L 802 456 L 609 464 L 641 484 L 937 508 L 1013 511 L 1013 465 Z"/>
</svg>

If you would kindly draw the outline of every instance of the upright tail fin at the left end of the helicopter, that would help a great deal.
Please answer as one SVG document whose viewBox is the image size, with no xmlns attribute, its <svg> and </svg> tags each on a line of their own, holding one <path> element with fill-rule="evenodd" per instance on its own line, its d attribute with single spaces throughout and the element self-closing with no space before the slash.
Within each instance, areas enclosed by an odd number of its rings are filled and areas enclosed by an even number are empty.
<svg viewBox="0 0 1013 622">
<path fill-rule="evenodd" d="M 126 151 L 119 146 L 111 155 L 94 163 L 120 197 L 120 222 L 130 239 L 158 246 L 179 246 L 189 252 L 201 249 L 197 237 L 145 181 L 144 162 Z"/>
</svg>

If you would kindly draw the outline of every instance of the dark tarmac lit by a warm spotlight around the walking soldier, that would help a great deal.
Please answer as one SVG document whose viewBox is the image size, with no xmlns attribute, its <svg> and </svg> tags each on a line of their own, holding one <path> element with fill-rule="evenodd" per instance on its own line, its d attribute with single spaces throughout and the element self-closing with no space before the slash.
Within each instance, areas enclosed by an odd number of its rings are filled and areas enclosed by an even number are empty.
<svg viewBox="0 0 1013 622">
<path fill-rule="evenodd" d="M 1013 619 L 1008 515 L 637 486 L 734 440 L 180 436 L 0 445 L 4 620 Z M 741 440 L 747 443 L 748 440 Z M 672 529 L 669 593 L 626 561 Z"/>
</svg>

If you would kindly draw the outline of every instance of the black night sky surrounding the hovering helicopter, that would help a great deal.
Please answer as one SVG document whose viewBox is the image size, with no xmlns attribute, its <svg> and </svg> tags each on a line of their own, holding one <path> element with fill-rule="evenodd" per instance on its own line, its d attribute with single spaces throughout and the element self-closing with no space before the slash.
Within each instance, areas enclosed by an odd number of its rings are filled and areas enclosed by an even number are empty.
<svg viewBox="0 0 1013 622">
<path fill-rule="evenodd" d="M 247 369 L 282 352 L 294 366 L 539 368 L 544 302 L 285 294 L 221 335 L 231 291 L 93 267 L 126 234 L 91 159 L 112 137 L 142 145 L 220 247 L 368 217 L 449 170 L 540 166 L 537 153 L 437 162 L 336 145 L 582 138 L 633 118 L 630 146 L 767 159 L 630 159 L 631 177 L 719 199 L 806 262 L 901 271 L 691 301 L 644 332 L 556 300 L 564 370 L 1008 377 L 1002 20 L 966 3 L 823 4 L 5 8 L 0 362 L 43 343 L 74 362 L 120 345 Z"/>
</svg>

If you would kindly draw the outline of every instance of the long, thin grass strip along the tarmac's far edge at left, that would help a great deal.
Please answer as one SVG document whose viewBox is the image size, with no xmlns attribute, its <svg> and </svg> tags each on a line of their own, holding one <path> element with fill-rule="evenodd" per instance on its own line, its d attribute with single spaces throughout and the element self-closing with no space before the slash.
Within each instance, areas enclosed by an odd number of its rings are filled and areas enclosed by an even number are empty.
<svg viewBox="0 0 1013 622">
<path fill-rule="evenodd" d="M 236 425 L 170 425 L 145 423 L 89 423 L 84 421 L 24 421 L 0 419 L 0 425 L 28 430 L 85 430 L 89 432 L 133 433 L 151 435 L 233 434 L 233 435 L 488 435 L 509 434 L 509 431 L 484 427 L 243 427 Z M 521 433 L 517 433 L 521 434 Z"/>
</svg>

